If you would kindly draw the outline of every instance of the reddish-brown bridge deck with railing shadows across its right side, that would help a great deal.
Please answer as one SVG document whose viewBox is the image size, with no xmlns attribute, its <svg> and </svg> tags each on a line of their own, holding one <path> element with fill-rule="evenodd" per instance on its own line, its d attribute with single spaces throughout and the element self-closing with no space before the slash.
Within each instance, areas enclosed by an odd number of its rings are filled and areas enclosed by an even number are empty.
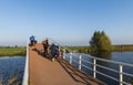
<svg viewBox="0 0 133 85">
<path fill-rule="evenodd" d="M 42 50 L 41 44 L 29 49 L 29 85 L 103 85 L 61 60 L 52 62 L 43 57 Z"/>
</svg>

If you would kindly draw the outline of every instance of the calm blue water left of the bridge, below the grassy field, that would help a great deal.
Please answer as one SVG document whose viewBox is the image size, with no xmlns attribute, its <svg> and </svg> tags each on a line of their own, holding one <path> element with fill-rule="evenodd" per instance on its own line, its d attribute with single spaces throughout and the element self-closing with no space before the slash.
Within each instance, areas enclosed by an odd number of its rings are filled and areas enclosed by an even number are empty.
<svg viewBox="0 0 133 85">
<path fill-rule="evenodd" d="M 18 81 L 22 81 L 24 63 L 25 57 L 23 56 L 0 57 L 0 77 L 2 78 L 3 85 L 16 74 L 18 74 Z"/>
</svg>

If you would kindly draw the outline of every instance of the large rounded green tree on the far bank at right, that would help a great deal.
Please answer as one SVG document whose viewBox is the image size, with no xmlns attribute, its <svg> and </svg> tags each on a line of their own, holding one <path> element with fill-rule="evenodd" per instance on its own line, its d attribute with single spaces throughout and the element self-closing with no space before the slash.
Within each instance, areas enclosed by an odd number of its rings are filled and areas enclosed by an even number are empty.
<svg viewBox="0 0 133 85">
<path fill-rule="evenodd" d="M 90 46 L 92 52 L 103 52 L 103 51 L 111 51 L 111 41 L 109 36 L 104 33 L 104 31 L 95 31 L 93 36 L 90 41 Z"/>
</svg>

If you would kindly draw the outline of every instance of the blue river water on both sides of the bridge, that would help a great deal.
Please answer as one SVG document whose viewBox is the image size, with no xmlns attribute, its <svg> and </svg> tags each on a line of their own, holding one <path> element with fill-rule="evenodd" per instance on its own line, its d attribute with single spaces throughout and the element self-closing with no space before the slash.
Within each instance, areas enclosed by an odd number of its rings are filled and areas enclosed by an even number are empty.
<svg viewBox="0 0 133 85">
<path fill-rule="evenodd" d="M 103 53 L 103 54 L 100 54 L 100 56 L 102 59 L 105 59 L 105 60 L 133 64 L 133 52 Z M 79 54 L 74 54 L 73 57 L 74 57 L 75 61 L 78 61 L 79 60 Z M 84 59 L 86 61 L 92 61 L 92 60 L 88 59 L 86 56 L 83 56 L 82 59 Z M 66 56 L 66 60 L 69 60 L 68 56 Z M 23 56 L 0 57 L 0 77 L 2 78 L 3 85 L 6 85 L 7 82 L 9 81 L 9 78 L 12 77 L 14 74 L 19 74 L 18 79 L 22 81 L 23 71 L 24 71 L 24 63 L 25 63 L 25 57 L 23 57 Z M 82 63 L 85 64 L 85 65 L 89 65 L 83 61 L 82 61 Z M 117 67 L 115 65 L 110 65 L 106 62 L 98 61 L 96 63 L 99 63 L 100 65 L 110 66 L 110 67 L 113 67 L 113 68 L 117 70 Z M 74 62 L 72 62 L 72 64 L 78 67 L 78 64 L 75 64 Z M 89 66 L 92 67 L 92 65 L 89 65 Z M 85 68 L 83 66 L 82 66 L 82 71 L 84 71 L 89 75 L 93 75 L 92 71 L 89 71 L 88 68 Z M 103 72 L 103 73 L 109 74 L 109 75 L 112 75 L 116 78 L 119 77 L 117 76 L 119 74 L 109 72 L 106 70 L 101 70 L 101 68 L 98 67 L 98 71 Z M 133 68 L 125 68 L 123 71 L 133 74 Z M 109 85 L 119 85 L 117 82 L 109 79 L 108 77 L 103 77 L 100 74 L 96 74 L 96 78 L 108 83 Z M 132 82 L 133 77 L 124 77 L 124 79 L 127 81 L 127 82 Z"/>
</svg>

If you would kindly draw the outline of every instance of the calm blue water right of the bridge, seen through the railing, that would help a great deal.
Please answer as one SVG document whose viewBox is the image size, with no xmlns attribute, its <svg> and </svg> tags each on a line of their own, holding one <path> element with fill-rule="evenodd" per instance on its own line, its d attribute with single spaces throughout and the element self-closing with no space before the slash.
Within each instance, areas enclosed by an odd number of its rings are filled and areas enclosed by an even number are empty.
<svg viewBox="0 0 133 85">
<path fill-rule="evenodd" d="M 123 63 L 133 64 L 133 52 L 101 53 L 101 54 L 98 54 L 98 57 L 99 56 L 102 57 L 102 59 L 105 59 L 105 60 L 111 60 L 111 61 L 116 61 L 116 62 L 123 62 Z M 85 61 L 92 62 L 92 60 L 89 59 L 85 55 L 82 56 L 82 59 L 85 60 Z M 69 61 L 70 59 L 66 56 L 66 60 Z M 73 60 L 75 62 L 78 62 L 79 61 L 79 54 L 73 54 Z M 78 67 L 78 64 L 74 63 L 73 61 L 72 61 L 72 64 L 75 67 Z M 89 67 L 93 68 L 93 66 L 91 64 L 89 64 L 89 63 L 86 63 L 84 61 L 82 61 L 82 64 L 88 65 Z M 116 65 L 116 64 L 112 64 L 112 63 L 108 63 L 108 62 L 102 62 L 102 61 L 96 61 L 96 64 L 100 64 L 102 66 L 111 67 L 111 68 L 114 68 L 114 70 L 119 71 L 119 65 Z M 99 72 L 108 74 L 108 75 L 110 75 L 112 77 L 119 78 L 119 73 L 114 73 L 114 72 L 111 72 L 111 71 L 108 71 L 108 70 L 103 70 L 101 67 L 96 67 L 96 70 Z M 85 67 L 83 67 L 83 66 L 82 66 L 82 71 L 84 71 L 86 74 L 93 76 L 93 72 L 90 71 L 90 70 L 88 70 L 88 68 L 85 68 Z M 131 68 L 131 67 L 123 66 L 123 72 L 133 74 L 133 67 Z M 101 75 L 99 73 L 96 73 L 96 78 L 105 82 L 109 85 L 119 85 L 119 82 L 110 79 L 110 78 L 108 78 L 108 77 L 105 77 L 105 76 L 103 76 L 103 75 Z M 129 83 L 133 82 L 133 77 L 129 77 L 129 76 L 125 76 L 125 75 L 123 75 L 123 79 L 125 82 L 129 82 Z"/>
</svg>

